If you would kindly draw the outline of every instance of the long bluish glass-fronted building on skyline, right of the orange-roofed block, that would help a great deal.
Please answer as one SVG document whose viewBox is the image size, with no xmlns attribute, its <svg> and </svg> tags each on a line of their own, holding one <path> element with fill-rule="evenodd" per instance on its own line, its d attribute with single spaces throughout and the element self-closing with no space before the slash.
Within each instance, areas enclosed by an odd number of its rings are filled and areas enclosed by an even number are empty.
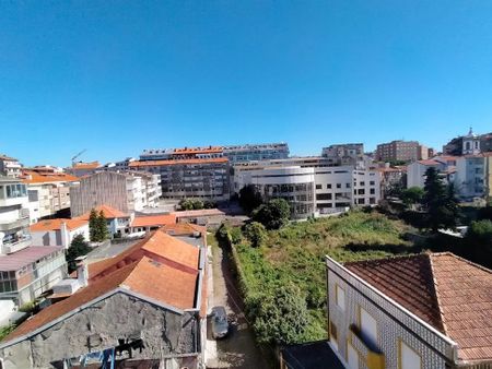
<svg viewBox="0 0 492 369">
<path fill-rule="evenodd" d="M 251 160 L 284 159 L 289 157 L 289 145 L 286 143 L 229 145 L 223 147 L 223 153 L 233 165 Z"/>
</svg>

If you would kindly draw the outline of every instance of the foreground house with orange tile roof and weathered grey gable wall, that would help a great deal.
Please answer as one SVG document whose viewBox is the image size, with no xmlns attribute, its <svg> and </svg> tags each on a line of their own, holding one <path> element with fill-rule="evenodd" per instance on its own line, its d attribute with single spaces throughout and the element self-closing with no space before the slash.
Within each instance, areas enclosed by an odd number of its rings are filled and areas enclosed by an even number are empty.
<svg viewBox="0 0 492 369">
<path fill-rule="evenodd" d="M 3 368 L 101 366 L 105 353 L 126 367 L 143 360 L 160 368 L 202 368 L 204 245 L 156 230 L 117 257 L 79 265 L 82 284 L 72 295 L 0 343 Z"/>
</svg>

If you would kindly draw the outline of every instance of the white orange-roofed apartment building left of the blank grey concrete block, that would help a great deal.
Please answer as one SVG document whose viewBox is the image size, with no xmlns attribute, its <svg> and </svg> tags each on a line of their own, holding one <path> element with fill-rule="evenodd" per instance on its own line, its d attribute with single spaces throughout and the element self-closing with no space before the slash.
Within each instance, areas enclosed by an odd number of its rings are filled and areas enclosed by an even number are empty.
<svg viewBox="0 0 492 369">
<path fill-rule="evenodd" d="M 27 186 L 31 223 L 46 217 L 67 216 L 70 209 L 70 183 L 77 180 L 79 178 L 55 170 L 23 170 L 22 182 Z"/>
</svg>

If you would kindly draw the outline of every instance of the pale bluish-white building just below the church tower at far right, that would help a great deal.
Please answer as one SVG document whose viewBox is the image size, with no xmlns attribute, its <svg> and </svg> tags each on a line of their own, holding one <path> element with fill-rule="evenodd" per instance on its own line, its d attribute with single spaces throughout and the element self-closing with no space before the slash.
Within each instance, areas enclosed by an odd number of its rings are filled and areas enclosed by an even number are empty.
<svg viewBox="0 0 492 369">
<path fill-rule="evenodd" d="M 455 186 L 464 200 L 485 195 L 485 157 L 483 155 L 461 156 L 456 164 Z"/>
</svg>

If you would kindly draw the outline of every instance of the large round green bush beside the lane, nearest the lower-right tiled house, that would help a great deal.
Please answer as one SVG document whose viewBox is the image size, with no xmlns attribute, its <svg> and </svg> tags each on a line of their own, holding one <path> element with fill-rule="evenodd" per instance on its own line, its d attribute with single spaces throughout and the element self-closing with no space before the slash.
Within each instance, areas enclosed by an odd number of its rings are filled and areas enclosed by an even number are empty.
<svg viewBox="0 0 492 369">
<path fill-rule="evenodd" d="M 283 285 L 248 302 L 249 316 L 254 317 L 253 326 L 260 343 L 283 345 L 303 340 L 309 314 L 306 300 L 297 287 Z"/>
</svg>

